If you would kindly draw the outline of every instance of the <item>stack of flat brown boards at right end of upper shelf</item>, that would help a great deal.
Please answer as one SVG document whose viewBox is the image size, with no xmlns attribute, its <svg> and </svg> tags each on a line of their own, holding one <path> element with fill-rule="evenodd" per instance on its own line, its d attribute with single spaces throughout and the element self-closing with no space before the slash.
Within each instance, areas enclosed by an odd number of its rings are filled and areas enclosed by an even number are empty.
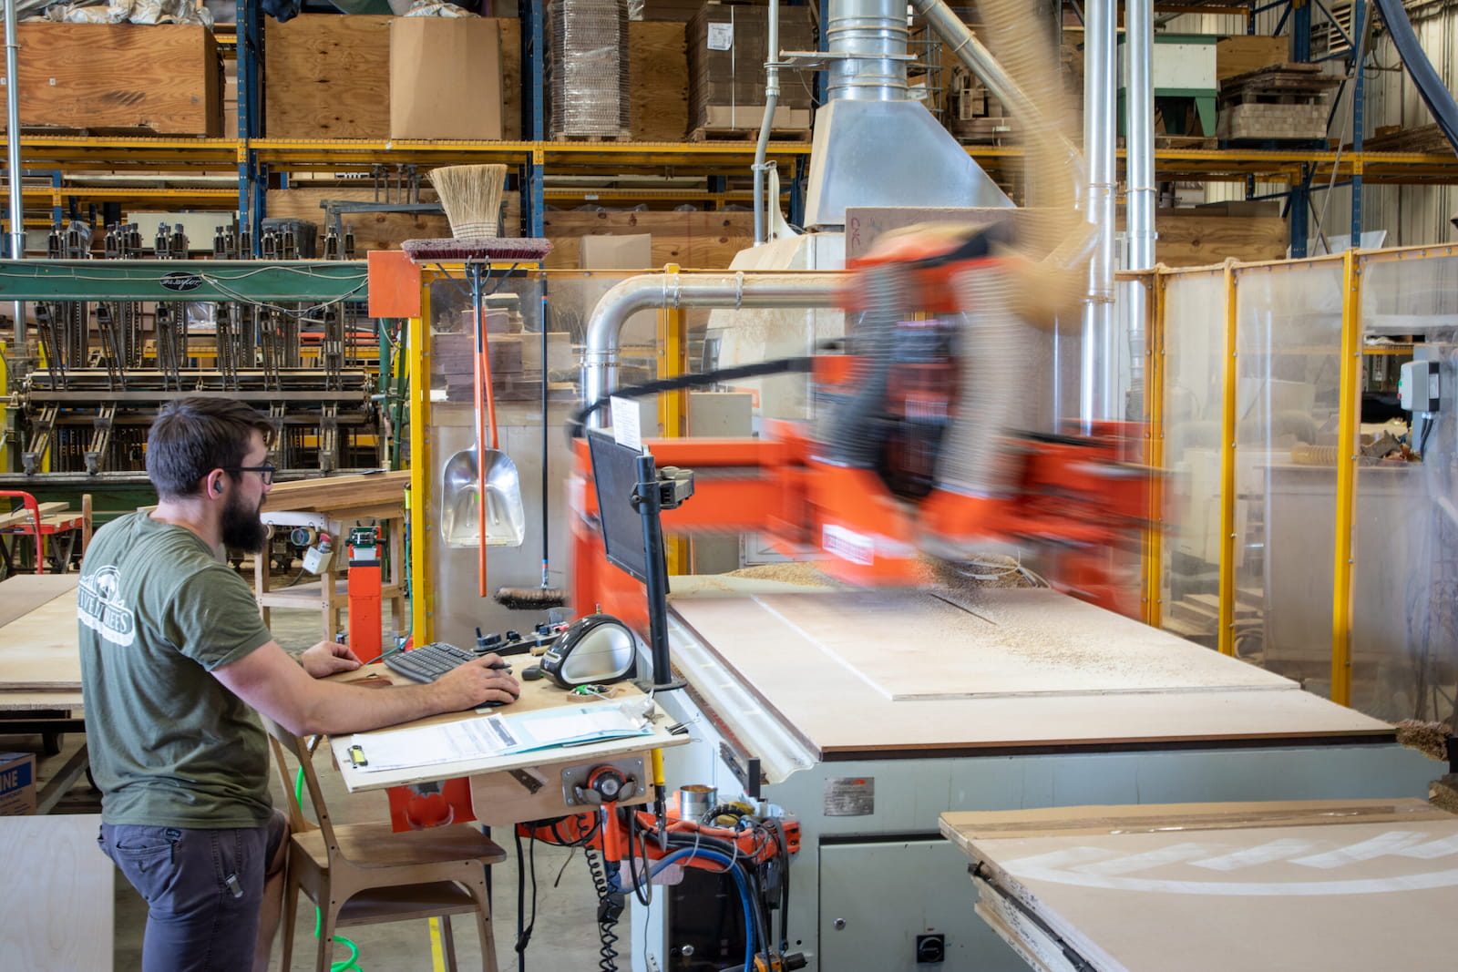
<svg viewBox="0 0 1458 972">
<path fill-rule="evenodd" d="M 1220 138 L 1327 137 L 1327 92 L 1341 83 L 1319 64 L 1271 64 L 1220 82 Z"/>
</svg>

